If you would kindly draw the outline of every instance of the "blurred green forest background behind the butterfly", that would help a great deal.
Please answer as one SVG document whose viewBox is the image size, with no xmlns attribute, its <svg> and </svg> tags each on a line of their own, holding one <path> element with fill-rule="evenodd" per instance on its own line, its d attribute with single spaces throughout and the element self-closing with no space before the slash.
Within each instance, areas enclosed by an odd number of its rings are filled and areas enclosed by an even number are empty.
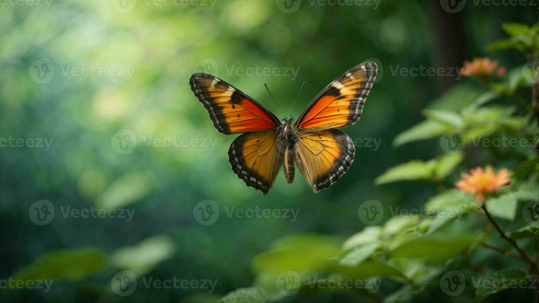
<svg viewBox="0 0 539 303">
<path fill-rule="evenodd" d="M 427 103 L 467 80 L 392 71 L 458 68 L 465 59 L 485 56 L 484 46 L 504 37 L 501 22 L 533 24 L 538 16 L 534 6 L 471 1 L 458 13 L 444 11 L 438 1 L 324 6 L 304 0 L 292 11 L 279 0 L 2 3 L 0 138 L 46 138 L 51 145 L 0 147 L 0 278 L 32 272 L 56 277 L 49 292 L 1 289 L 5 301 L 215 301 L 250 286 L 252 258 L 279 237 L 347 238 L 364 227 L 357 208 L 370 199 L 418 207 L 434 187 L 375 187 L 373 180 L 388 167 L 439 152 L 436 140 L 427 149 L 415 143 L 394 148 L 391 141 L 421 121 Z M 521 61 L 511 52 L 490 55 L 505 66 Z M 299 172 L 292 185 L 280 172 L 267 196 L 246 187 L 227 158 L 236 136 L 213 128 L 188 83 L 195 72 L 212 73 L 281 117 L 262 83 L 286 112 L 306 81 L 291 110 L 296 117 L 330 81 L 367 59 L 377 60 L 380 73 L 362 118 L 344 131 L 354 140 L 381 144 L 356 146 L 348 172 L 318 194 Z M 257 67 L 279 73 L 242 73 Z M 83 75 L 85 68 L 89 75 Z M 136 139 L 128 153 L 115 141 L 126 129 Z M 147 146 L 150 137 L 190 143 Z M 44 225 L 32 216 L 40 200 L 55 211 Z M 209 226 L 194 214 L 204 200 L 219 207 Z M 83 218 L 64 215 L 68 207 L 134 213 L 131 220 Z M 232 207 L 297 209 L 299 215 L 295 221 L 229 217 Z M 121 297 L 110 281 L 124 269 L 139 278 L 217 284 L 213 292 L 137 287 Z"/>
</svg>

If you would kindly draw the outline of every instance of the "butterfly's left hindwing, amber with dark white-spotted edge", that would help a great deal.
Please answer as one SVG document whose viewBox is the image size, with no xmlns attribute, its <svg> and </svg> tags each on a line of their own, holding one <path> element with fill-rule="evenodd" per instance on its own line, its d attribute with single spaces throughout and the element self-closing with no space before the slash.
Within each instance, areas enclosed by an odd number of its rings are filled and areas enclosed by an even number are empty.
<svg viewBox="0 0 539 303">
<path fill-rule="evenodd" d="M 282 166 L 284 146 L 277 130 L 247 132 L 234 139 L 229 149 L 232 171 L 245 182 L 267 194 Z"/>
</svg>

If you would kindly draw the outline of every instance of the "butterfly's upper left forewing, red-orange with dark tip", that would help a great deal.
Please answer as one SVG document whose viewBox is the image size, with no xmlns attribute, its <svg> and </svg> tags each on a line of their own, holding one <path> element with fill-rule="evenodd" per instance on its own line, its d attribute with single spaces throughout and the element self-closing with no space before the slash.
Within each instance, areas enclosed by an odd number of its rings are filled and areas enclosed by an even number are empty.
<svg viewBox="0 0 539 303">
<path fill-rule="evenodd" d="M 220 133 L 233 135 L 280 124 L 264 106 L 218 77 L 198 73 L 190 77 L 189 84 Z"/>
</svg>

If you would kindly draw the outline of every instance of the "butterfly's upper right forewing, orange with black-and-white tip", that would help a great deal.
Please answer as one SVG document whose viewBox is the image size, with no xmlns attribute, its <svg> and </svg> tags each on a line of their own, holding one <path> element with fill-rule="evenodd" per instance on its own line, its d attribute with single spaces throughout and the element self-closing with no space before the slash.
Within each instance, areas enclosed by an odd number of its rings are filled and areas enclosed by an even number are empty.
<svg viewBox="0 0 539 303">
<path fill-rule="evenodd" d="M 339 128 L 356 123 L 376 72 L 375 62 L 351 68 L 314 97 L 295 125 L 298 128 Z"/>
</svg>

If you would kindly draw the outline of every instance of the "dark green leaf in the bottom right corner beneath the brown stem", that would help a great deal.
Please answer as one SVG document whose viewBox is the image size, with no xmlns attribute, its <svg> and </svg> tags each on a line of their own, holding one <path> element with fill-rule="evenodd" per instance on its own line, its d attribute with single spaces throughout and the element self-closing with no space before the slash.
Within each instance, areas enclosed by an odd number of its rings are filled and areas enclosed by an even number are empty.
<svg viewBox="0 0 539 303">
<path fill-rule="evenodd" d="M 496 271 L 491 276 L 478 279 L 478 287 L 475 290 L 475 297 L 488 297 L 488 295 L 506 290 L 513 285 L 517 285 L 520 280 L 527 278 L 525 272 L 519 269 L 503 269 Z"/>
</svg>

